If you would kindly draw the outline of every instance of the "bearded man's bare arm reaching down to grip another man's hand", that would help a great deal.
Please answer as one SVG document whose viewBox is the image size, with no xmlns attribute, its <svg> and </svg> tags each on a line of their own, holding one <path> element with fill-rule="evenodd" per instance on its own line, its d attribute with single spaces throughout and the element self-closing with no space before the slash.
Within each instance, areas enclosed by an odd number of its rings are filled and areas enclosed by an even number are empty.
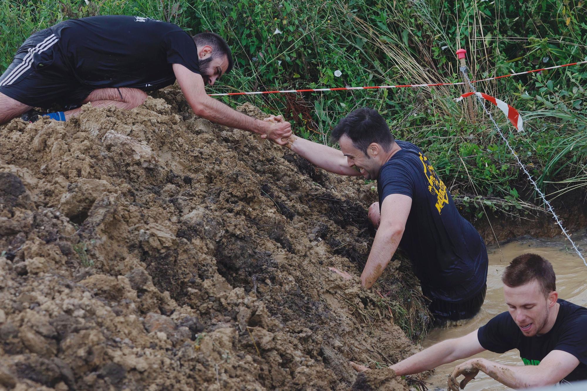
<svg viewBox="0 0 587 391">
<path fill-rule="evenodd" d="M 289 122 L 272 123 L 251 118 L 209 97 L 204 88 L 203 78 L 183 65 L 173 64 L 173 72 L 185 99 L 196 115 L 220 125 L 259 133 L 262 138 L 268 137 L 279 145 L 286 143 L 282 138 L 291 135 Z"/>
</svg>

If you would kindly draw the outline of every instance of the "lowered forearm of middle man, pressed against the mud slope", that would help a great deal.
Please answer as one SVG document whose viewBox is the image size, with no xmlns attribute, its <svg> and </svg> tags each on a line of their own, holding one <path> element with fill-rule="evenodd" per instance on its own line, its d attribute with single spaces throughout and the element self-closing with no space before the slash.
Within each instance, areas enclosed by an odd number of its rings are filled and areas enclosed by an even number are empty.
<svg viewBox="0 0 587 391">
<path fill-rule="evenodd" d="M 361 273 L 362 286 L 370 288 L 377 281 L 396 252 L 402 235 L 403 229 L 380 227 L 377 230 L 365 269 Z"/>
</svg>

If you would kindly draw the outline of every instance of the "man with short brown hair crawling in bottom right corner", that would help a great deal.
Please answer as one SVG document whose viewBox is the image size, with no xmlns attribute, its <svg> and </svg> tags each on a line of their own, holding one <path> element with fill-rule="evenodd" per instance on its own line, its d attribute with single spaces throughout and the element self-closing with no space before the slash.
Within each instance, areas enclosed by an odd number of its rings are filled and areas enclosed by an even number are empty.
<svg viewBox="0 0 587 391">
<path fill-rule="evenodd" d="M 458 391 L 479 371 L 514 388 L 529 388 L 587 379 L 587 308 L 558 299 L 552 265 L 539 255 L 520 255 L 505 268 L 508 311 L 464 337 L 447 339 L 390 368 L 410 375 L 436 368 L 485 350 L 518 349 L 524 366 L 474 358 L 457 365 L 448 388 Z M 359 371 L 369 368 L 351 362 Z M 458 376 L 464 379 L 457 381 Z"/>
</svg>

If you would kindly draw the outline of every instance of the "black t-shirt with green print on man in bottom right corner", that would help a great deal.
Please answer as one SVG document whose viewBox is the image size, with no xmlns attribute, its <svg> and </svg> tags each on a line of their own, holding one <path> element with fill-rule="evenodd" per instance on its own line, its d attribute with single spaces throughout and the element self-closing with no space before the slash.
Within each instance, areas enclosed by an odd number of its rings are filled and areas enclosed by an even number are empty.
<svg viewBox="0 0 587 391">
<path fill-rule="evenodd" d="M 510 313 L 504 312 L 479 328 L 477 338 L 488 351 L 504 353 L 518 349 L 524 365 L 538 365 L 553 350 L 562 350 L 579 360 L 564 382 L 587 379 L 587 308 L 562 299 L 552 329 L 544 335 L 524 337 Z"/>
</svg>

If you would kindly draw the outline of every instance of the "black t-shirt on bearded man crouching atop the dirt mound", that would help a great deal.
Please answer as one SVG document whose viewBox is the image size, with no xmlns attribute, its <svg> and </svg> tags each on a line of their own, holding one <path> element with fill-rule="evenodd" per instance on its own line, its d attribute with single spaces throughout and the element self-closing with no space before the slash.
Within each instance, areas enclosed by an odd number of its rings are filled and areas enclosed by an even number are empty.
<svg viewBox="0 0 587 391">
<path fill-rule="evenodd" d="M 173 84 L 172 64 L 200 73 L 198 50 L 172 23 L 139 16 L 92 16 L 51 28 L 73 76 L 92 88 L 156 90 Z"/>
</svg>

